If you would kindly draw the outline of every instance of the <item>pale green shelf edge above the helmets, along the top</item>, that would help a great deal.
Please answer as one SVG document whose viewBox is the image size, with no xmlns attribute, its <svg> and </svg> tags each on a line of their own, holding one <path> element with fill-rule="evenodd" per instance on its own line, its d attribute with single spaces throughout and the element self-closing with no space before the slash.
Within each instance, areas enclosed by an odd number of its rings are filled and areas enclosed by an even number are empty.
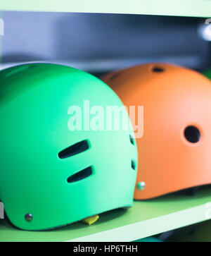
<svg viewBox="0 0 211 256">
<path fill-rule="evenodd" d="M 8 0 L 1 1 L 1 11 L 57 11 L 80 13 L 131 13 L 167 16 L 211 16 L 211 1 L 207 0 Z"/>
</svg>

